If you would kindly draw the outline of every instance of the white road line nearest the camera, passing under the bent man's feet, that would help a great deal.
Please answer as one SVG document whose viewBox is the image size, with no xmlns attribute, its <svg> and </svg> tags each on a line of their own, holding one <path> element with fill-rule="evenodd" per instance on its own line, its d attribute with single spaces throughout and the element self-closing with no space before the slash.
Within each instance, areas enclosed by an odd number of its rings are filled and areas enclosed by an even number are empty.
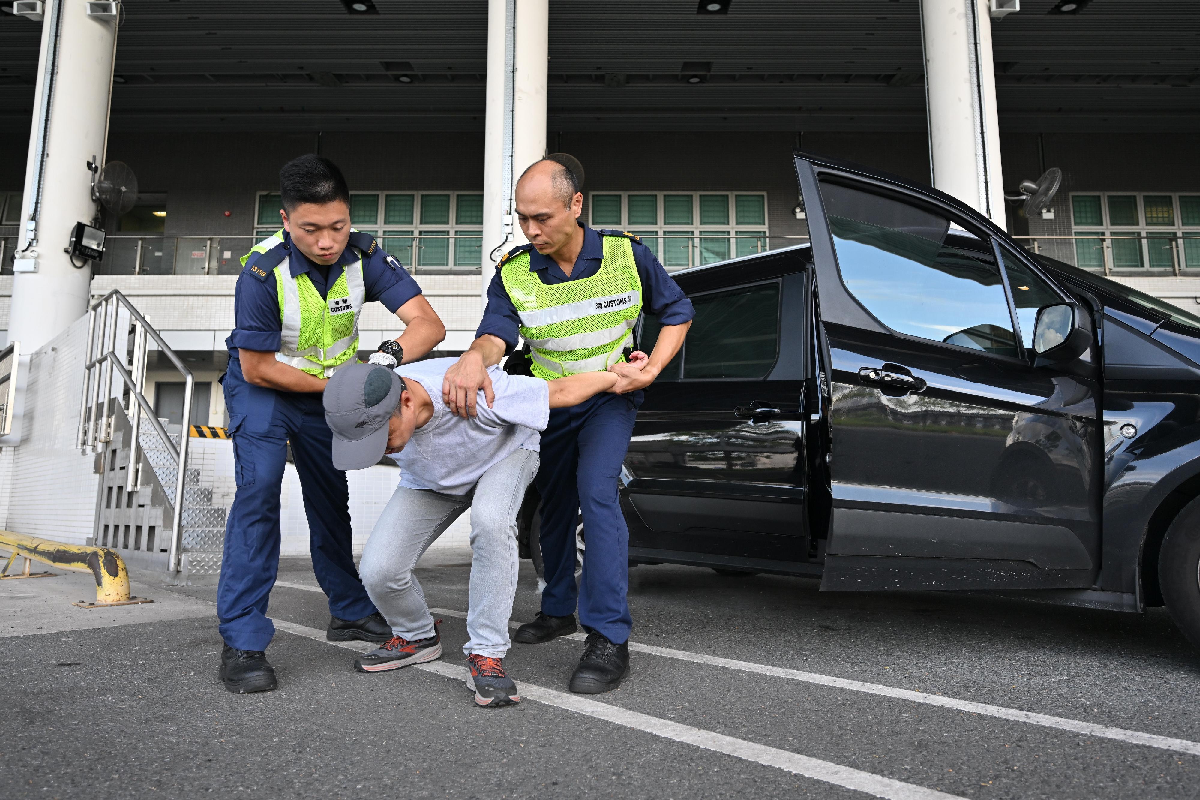
<svg viewBox="0 0 1200 800">
<path fill-rule="evenodd" d="M 442 610 L 438 610 L 438 613 L 442 613 Z M 304 625 L 296 625 L 294 622 L 286 622 L 283 620 L 275 619 L 272 619 L 272 622 L 275 622 L 275 627 L 280 631 L 294 633 L 295 635 L 313 639 L 316 641 L 323 641 L 337 647 L 346 647 L 347 650 L 354 650 L 356 652 L 367 652 L 374 649 L 374 645 L 367 641 L 329 641 L 325 639 L 324 631 L 310 628 Z M 466 681 L 467 679 L 466 667 L 457 667 L 455 664 L 448 664 L 439 661 L 433 661 L 426 664 L 413 664 L 413 668 L 427 673 L 434 673 L 454 680 Z M 947 794 L 946 792 L 938 792 L 936 789 L 926 789 L 925 787 L 916 786 L 913 783 L 895 781 L 881 775 L 864 772 L 863 770 L 856 770 L 853 768 L 842 766 L 832 762 L 823 762 L 818 758 L 809 758 L 808 756 L 800 756 L 798 753 L 779 750 L 776 747 L 757 745 L 752 741 L 734 739 L 733 736 L 713 733 L 712 730 L 704 730 L 703 728 L 692 728 L 691 726 L 680 724 L 678 722 L 660 720 L 659 717 L 652 717 L 648 714 L 629 711 L 614 705 L 598 703 L 596 700 L 589 700 L 587 698 L 568 694 L 565 692 L 556 692 L 554 689 L 550 689 L 544 686 L 535 686 L 524 681 L 521 682 L 521 694 L 522 697 L 536 700 L 538 703 L 542 703 L 545 705 L 552 705 L 566 711 L 574 711 L 584 716 L 595 717 L 596 720 L 604 720 L 606 722 L 612 722 L 613 724 L 624 726 L 625 728 L 632 728 L 635 730 L 641 730 L 664 739 L 671 739 L 672 741 L 692 745 L 703 750 L 710 750 L 716 753 L 733 756 L 734 758 L 754 762 L 755 764 L 762 764 L 763 766 L 774 766 L 786 772 L 803 775 L 805 777 L 823 781 L 826 783 L 833 783 L 847 789 L 854 789 L 856 792 L 870 794 L 876 798 L 887 798 L 888 800 L 964 800 L 955 794 Z"/>
</svg>

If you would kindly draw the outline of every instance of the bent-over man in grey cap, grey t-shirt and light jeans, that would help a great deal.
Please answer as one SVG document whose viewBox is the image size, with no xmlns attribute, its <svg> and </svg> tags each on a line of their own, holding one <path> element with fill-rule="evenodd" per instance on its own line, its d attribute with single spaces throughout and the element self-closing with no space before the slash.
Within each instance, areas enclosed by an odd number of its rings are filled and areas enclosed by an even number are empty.
<svg viewBox="0 0 1200 800">
<path fill-rule="evenodd" d="M 457 417 L 442 401 L 452 358 L 395 370 L 356 364 L 325 388 L 325 419 L 334 432 L 334 466 L 361 470 L 386 453 L 401 480 L 362 550 L 359 574 L 392 638 L 355 659 L 376 673 L 433 661 L 442 641 L 413 567 L 425 549 L 468 507 L 470 597 L 463 646 L 467 685 L 486 706 L 521 702 L 504 671 L 509 616 L 517 587 L 517 511 L 538 472 L 539 431 L 551 408 L 574 406 L 616 386 L 614 372 L 556 381 L 490 370 L 494 400 L 475 417 Z M 432 390 L 431 390 L 432 389 Z"/>
</svg>

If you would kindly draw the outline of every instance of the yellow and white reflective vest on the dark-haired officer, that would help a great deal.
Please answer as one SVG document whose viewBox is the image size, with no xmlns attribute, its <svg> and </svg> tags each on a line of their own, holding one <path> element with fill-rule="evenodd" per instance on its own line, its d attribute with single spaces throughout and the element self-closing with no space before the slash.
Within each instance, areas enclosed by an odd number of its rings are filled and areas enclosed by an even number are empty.
<svg viewBox="0 0 1200 800">
<path fill-rule="evenodd" d="M 259 241 L 241 263 L 256 252 L 266 252 L 283 244 L 283 231 Z M 362 281 L 362 255 L 342 267 L 342 274 L 322 299 L 307 273 L 292 276 L 292 256 L 275 265 L 275 288 L 280 300 L 282 344 L 277 360 L 318 377 L 330 377 L 342 365 L 356 362 L 359 352 L 359 316 L 366 300 Z"/>
</svg>

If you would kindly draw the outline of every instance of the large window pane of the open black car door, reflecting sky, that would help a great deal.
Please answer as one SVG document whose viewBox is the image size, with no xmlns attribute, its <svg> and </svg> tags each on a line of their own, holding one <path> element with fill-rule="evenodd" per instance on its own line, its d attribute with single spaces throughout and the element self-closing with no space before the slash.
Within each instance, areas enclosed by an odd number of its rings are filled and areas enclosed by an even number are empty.
<svg viewBox="0 0 1200 800">
<path fill-rule="evenodd" d="M 846 288 L 910 336 L 1016 356 L 1008 299 L 991 246 L 940 214 L 822 183 Z"/>
</svg>

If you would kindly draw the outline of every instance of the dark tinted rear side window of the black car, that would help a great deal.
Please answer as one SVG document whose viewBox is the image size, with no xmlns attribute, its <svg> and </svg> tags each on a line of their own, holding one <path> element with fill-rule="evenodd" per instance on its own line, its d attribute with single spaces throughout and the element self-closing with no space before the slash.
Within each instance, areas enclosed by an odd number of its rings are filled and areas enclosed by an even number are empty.
<svg viewBox="0 0 1200 800">
<path fill-rule="evenodd" d="M 763 378 L 779 348 L 779 283 L 691 298 L 684 378 Z"/>
</svg>

